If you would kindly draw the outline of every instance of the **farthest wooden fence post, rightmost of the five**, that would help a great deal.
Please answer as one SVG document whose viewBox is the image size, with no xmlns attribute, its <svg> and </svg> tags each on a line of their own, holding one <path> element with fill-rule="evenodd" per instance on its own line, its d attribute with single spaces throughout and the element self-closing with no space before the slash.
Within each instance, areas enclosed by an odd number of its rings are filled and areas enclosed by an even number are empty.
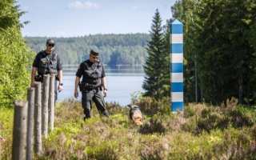
<svg viewBox="0 0 256 160">
<path fill-rule="evenodd" d="M 55 76 L 56 74 L 50 74 L 50 98 L 49 98 L 49 106 L 50 106 L 50 132 L 54 130 L 54 87 L 55 87 Z"/>
</svg>

